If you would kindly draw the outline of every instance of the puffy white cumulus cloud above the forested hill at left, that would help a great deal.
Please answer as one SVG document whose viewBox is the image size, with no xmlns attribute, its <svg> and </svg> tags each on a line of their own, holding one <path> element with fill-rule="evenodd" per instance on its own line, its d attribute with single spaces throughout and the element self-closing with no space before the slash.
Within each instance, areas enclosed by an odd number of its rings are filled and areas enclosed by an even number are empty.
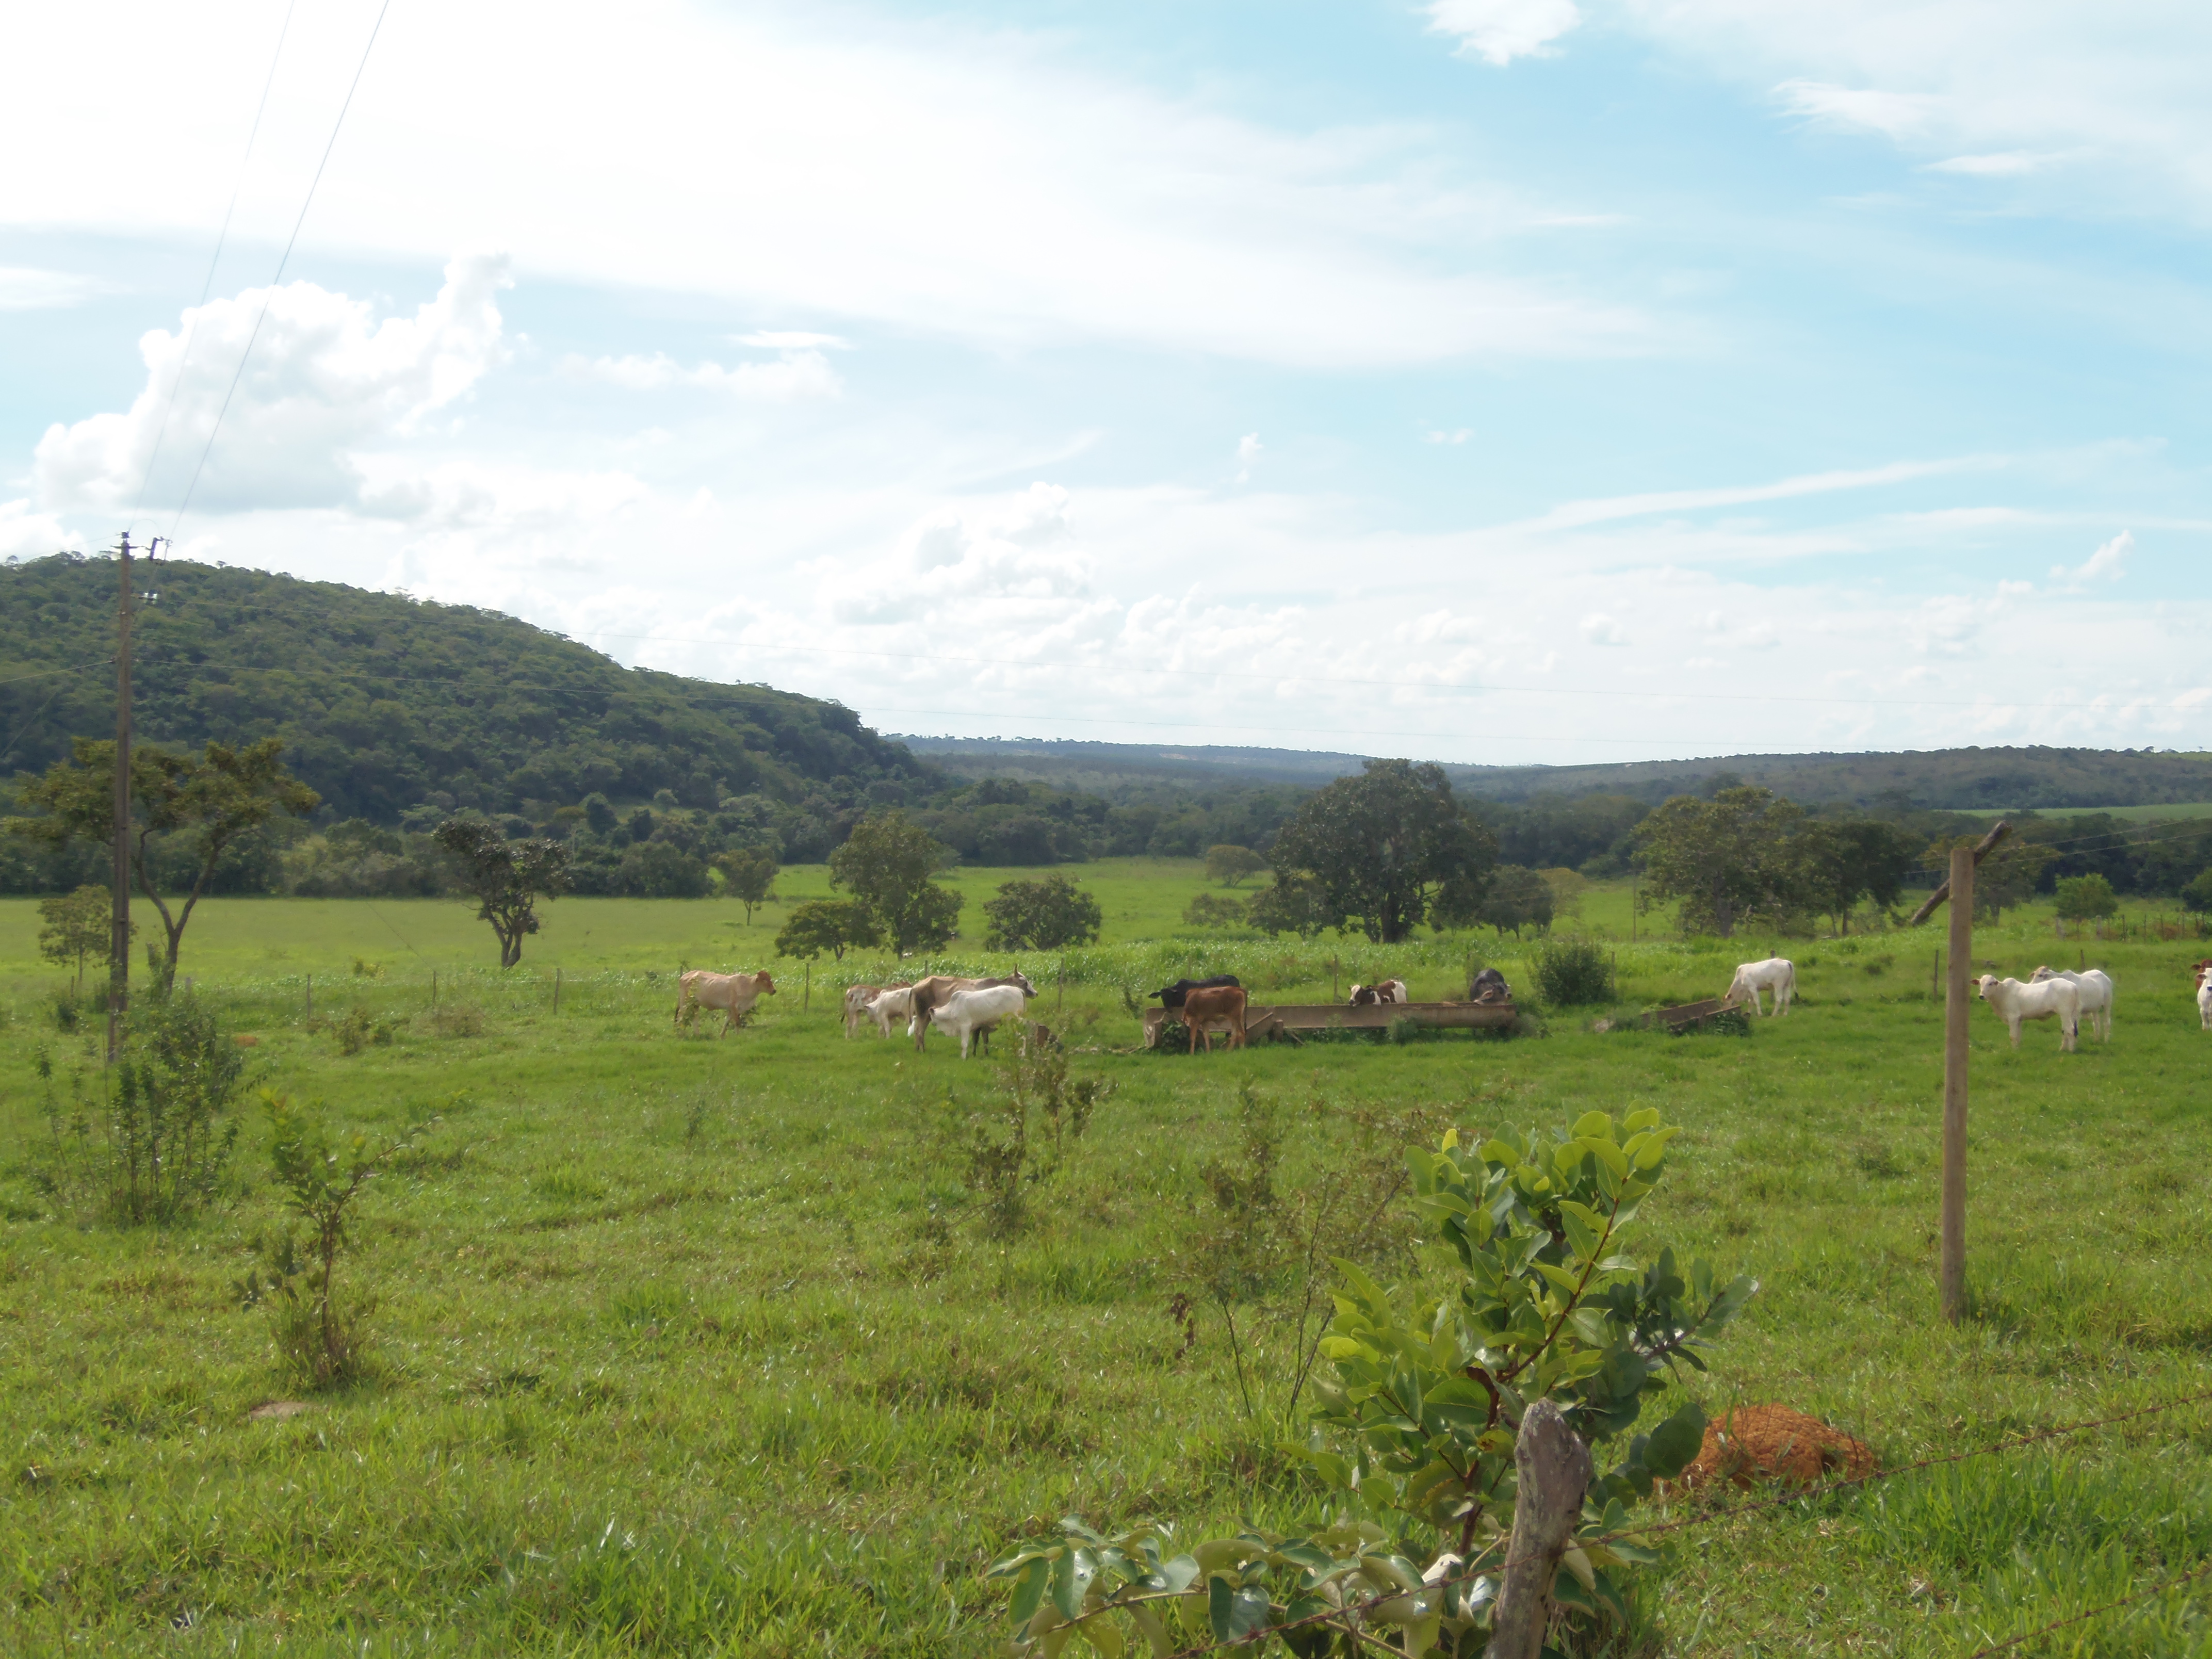
<svg viewBox="0 0 2212 1659">
<path fill-rule="evenodd" d="M 133 502 L 159 436 L 150 500 L 177 500 L 221 416 L 197 507 L 349 502 L 361 447 L 411 434 L 502 361 L 498 292 L 509 285 L 504 257 L 467 254 L 445 268 L 445 288 L 414 316 L 380 323 L 369 301 L 314 283 L 250 288 L 188 310 L 177 334 L 153 330 L 139 341 L 146 385 L 126 411 L 46 429 L 33 462 L 38 498 L 60 509 Z"/>
</svg>

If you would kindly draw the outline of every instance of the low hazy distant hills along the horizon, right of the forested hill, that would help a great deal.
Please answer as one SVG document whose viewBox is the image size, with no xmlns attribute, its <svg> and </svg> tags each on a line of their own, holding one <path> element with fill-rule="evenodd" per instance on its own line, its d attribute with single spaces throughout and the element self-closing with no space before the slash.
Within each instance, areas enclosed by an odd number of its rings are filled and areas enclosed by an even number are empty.
<svg viewBox="0 0 2212 1659">
<path fill-rule="evenodd" d="M 900 737 L 916 754 L 962 776 L 1022 776 L 1093 792 L 1139 783 L 1305 783 L 1360 768 L 1356 754 L 1214 748 L 1201 743 L 1088 743 L 1053 739 Z M 2212 754 L 2075 748 L 1958 748 L 1869 754 L 1721 754 L 1697 761 L 1608 765 L 1447 765 L 1482 801 L 1619 794 L 1646 803 L 1697 794 L 1714 776 L 1763 783 L 1794 801 L 1863 807 L 2119 807 L 2212 801 Z"/>
</svg>

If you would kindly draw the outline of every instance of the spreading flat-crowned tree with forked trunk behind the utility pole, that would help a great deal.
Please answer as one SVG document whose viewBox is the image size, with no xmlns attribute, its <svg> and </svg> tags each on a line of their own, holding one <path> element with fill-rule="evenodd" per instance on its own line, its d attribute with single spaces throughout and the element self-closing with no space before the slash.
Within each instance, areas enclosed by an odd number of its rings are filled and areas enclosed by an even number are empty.
<svg viewBox="0 0 2212 1659">
<path fill-rule="evenodd" d="M 307 816 L 323 796 L 294 779 L 283 765 L 283 739 L 232 748 L 208 743 L 201 754 L 170 754 L 159 748 L 131 750 L 131 876 L 137 889 L 161 914 L 166 951 L 161 956 L 161 989 L 177 980 L 177 951 L 192 907 L 215 878 L 239 836 L 259 830 L 279 812 Z M 42 818 L 9 818 L 7 827 L 38 841 L 115 838 L 115 743 L 73 739 L 71 759 L 55 761 L 46 772 L 18 785 L 18 799 L 44 807 Z M 170 911 L 146 872 L 146 843 L 159 834 L 179 834 L 199 860 L 199 874 L 184 902 Z"/>
</svg>

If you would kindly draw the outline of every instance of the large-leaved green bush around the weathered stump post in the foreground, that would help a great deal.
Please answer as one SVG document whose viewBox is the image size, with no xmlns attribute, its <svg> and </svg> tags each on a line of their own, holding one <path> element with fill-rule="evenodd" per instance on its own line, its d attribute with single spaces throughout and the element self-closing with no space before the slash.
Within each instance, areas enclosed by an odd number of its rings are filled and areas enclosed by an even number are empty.
<svg viewBox="0 0 2212 1659">
<path fill-rule="evenodd" d="M 1635 1433 L 1646 1396 L 1677 1365 L 1703 1369 L 1699 1349 L 1756 1290 L 1717 1283 L 1705 1263 L 1681 1270 L 1672 1250 L 1644 1270 L 1624 1252 L 1674 1133 L 1644 1108 L 1619 1124 L 1586 1113 L 1564 1135 L 1506 1130 L 1478 1146 L 1449 1130 L 1433 1152 L 1411 1148 L 1411 1210 L 1458 1272 L 1394 1296 L 1338 1263 L 1307 1438 L 1285 1444 L 1332 1489 L 1334 1513 L 1303 1535 L 1250 1526 L 1175 1557 L 1166 1526 L 1104 1537 L 1066 1520 L 1062 1537 L 989 1571 L 1011 1590 L 1011 1652 L 1060 1652 L 1077 1621 L 1102 1652 L 1124 1650 L 1128 1626 L 1168 1652 L 1256 1644 L 1292 1621 L 1310 1621 L 1285 1632 L 1301 1655 L 1380 1646 L 1376 1624 L 1400 1628 L 1407 1652 L 1480 1652 L 1513 1533 L 1515 1440 L 1537 1400 L 1619 1447 L 1590 1480 L 1553 1586 L 1555 1641 L 1626 1619 L 1619 1575 L 1659 1559 L 1635 1542 L 1632 1506 L 1705 1433 L 1694 1402 Z"/>
</svg>

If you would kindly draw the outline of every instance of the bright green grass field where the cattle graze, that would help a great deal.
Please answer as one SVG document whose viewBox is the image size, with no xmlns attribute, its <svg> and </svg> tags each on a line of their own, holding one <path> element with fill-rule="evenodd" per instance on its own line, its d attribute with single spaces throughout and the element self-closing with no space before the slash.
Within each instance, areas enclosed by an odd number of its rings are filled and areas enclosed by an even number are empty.
<svg viewBox="0 0 2212 1659">
<path fill-rule="evenodd" d="M 998 1066 L 847 1042 L 821 987 L 878 964 L 818 964 L 812 1009 L 792 987 L 726 1040 L 670 1024 L 677 962 L 763 964 L 776 907 L 748 931 L 732 905 L 562 900 L 502 978 L 462 905 L 208 905 L 186 971 L 259 1037 L 265 1086 L 369 1130 L 440 1115 L 363 1201 L 341 1272 L 378 1296 L 378 1374 L 327 1396 L 279 1371 L 232 1292 L 279 1223 L 259 1119 L 237 1192 L 188 1225 L 80 1228 L 33 1188 L 33 1060 L 66 1079 L 93 1040 L 55 1020 L 33 907 L 0 902 L 0 1650 L 980 1655 L 1002 1632 L 978 1568 L 1066 1511 L 1312 1513 L 1267 1420 L 1281 1345 L 1252 1358 L 1248 1416 L 1219 1318 L 1190 1343 L 1168 1312 L 1241 1084 L 1285 1117 L 1287 1186 L 1413 1117 L 1661 1106 L 1688 1128 L 1646 1248 L 1763 1281 L 1697 1396 L 1814 1411 L 1885 1467 L 2212 1387 L 2199 940 L 2079 947 L 2121 987 L 2110 1046 L 2059 1055 L 2031 1029 L 2013 1053 L 1980 1015 L 1975 1314 L 1953 1332 L 1931 933 L 1790 945 L 1798 1009 L 1752 1037 L 1597 1035 L 1597 1009 L 1553 1009 L 1511 1042 L 1146 1055 L 1121 989 L 1175 962 L 1234 960 L 1292 1000 L 1327 993 L 1332 956 L 1442 993 L 1475 956 L 1520 982 L 1524 951 L 1175 942 L 1194 865 L 1079 874 L 1108 936 L 1068 953 L 1042 1018 L 1113 1093 L 1006 1241 L 960 1152 Z M 962 876 L 971 907 L 998 878 Z M 1586 909 L 1621 1006 L 1717 993 L 1767 945 L 1628 942 L 1624 894 Z M 2022 978 L 2057 949 L 2077 945 L 2037 914 L 1978 940 Z M 356 1002 L 394 1040 L 345 1055 L 330 1022 Z M 288 1398 L 310 1409 L 250 1416 Z M 1630 1648 L 1966 1655 L 2205 1559 L 2194 1405 L 1690 1531 Z M 2024 1652 L 2212 1652 L 2208 1608 L 2152 1597 Z"/>
</svg>

